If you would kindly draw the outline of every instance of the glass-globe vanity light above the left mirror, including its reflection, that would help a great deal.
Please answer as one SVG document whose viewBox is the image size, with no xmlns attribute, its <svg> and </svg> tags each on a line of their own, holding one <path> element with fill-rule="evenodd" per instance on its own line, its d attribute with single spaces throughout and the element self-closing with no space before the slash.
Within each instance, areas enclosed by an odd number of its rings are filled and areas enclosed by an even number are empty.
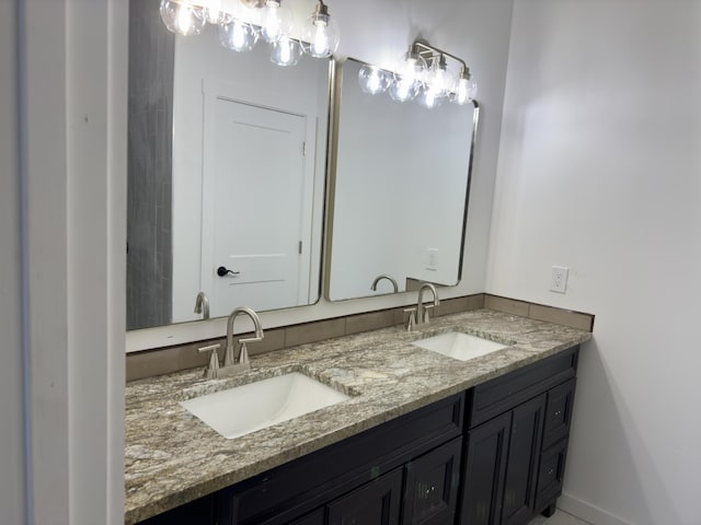
<svg viewBox="0 0 701 525">
<path fill-rule="evenodd" d="M 219 42 L 234 51 L 249 51 L 262 36 L 271 46 L 271 61 L 296 65 L 302 50 L 315 58 L 338 48 L 338 30 L 329 7 L 319 0 L 303 30 L 292 38 L 292 13 L 281 0 L 161 0 L 161 20 L 173 33 L 198 35 L 205 24 L 217 25 Z"/>
</svg>

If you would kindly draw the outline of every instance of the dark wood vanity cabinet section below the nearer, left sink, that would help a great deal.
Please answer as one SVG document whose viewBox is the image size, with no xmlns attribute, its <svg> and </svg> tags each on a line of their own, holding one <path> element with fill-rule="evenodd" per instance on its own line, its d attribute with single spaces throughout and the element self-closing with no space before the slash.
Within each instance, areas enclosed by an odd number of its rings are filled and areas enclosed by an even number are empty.
<svg viewBox="0 0 701 525">
<path fill-rule="evenodd" d="M 218 492 L 219 525 L 455 521 L 464 393 Z"/>
</svg>

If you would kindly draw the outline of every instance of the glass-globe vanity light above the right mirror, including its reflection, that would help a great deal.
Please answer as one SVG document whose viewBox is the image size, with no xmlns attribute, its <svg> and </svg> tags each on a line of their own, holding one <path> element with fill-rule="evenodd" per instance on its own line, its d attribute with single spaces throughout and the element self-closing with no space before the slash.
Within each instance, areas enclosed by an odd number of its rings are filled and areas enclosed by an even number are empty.
<svg viewBox="0 0 701 525">
<path fill-rule="evenodd" d="M 459 72 L 450 69 L 448 59 L 460 66 Z M 376 82 L 370 74 L 372 66 L 364 69 L 366 72 L 360 70 L 358 75 L 363 91 L 371 94 L 384 91 L 371 89 L 370 84 Z M 476 82 L 464 60 L 424 40 L 415 40 L 390 79 L 388 91 L 394 101 L 409 102 L 418 96 L 421 105 L 433 108 L 445 98 L 460 105 L 468 104 L 476 94 Z"/>
</svg>

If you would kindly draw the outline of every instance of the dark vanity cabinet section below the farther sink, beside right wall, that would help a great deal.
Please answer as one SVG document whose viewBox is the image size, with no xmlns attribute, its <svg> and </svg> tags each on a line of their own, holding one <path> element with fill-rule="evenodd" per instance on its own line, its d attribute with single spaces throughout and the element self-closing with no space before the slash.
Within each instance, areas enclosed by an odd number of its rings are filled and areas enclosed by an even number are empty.
<svg viewBox="0 0 701 525">
<path fill-rule="evenodd" d="M 578 348 L 468 393 L 460 525 L 521 525 L 562 492 Z"/>
</svg>

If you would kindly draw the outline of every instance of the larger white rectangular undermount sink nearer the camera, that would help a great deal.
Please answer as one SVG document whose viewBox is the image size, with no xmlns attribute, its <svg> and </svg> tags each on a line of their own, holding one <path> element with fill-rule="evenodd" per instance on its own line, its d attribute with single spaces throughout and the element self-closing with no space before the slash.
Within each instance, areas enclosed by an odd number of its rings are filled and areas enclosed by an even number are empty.
<svg viewBox="0 0 701 525">
<path fill-rule="evenodd" d="M 181 401 L 181 405 L 225 438 L 233 439 L 345 399 L 348 399 L 345 394 L 292 372 Z"/>
</svg>

